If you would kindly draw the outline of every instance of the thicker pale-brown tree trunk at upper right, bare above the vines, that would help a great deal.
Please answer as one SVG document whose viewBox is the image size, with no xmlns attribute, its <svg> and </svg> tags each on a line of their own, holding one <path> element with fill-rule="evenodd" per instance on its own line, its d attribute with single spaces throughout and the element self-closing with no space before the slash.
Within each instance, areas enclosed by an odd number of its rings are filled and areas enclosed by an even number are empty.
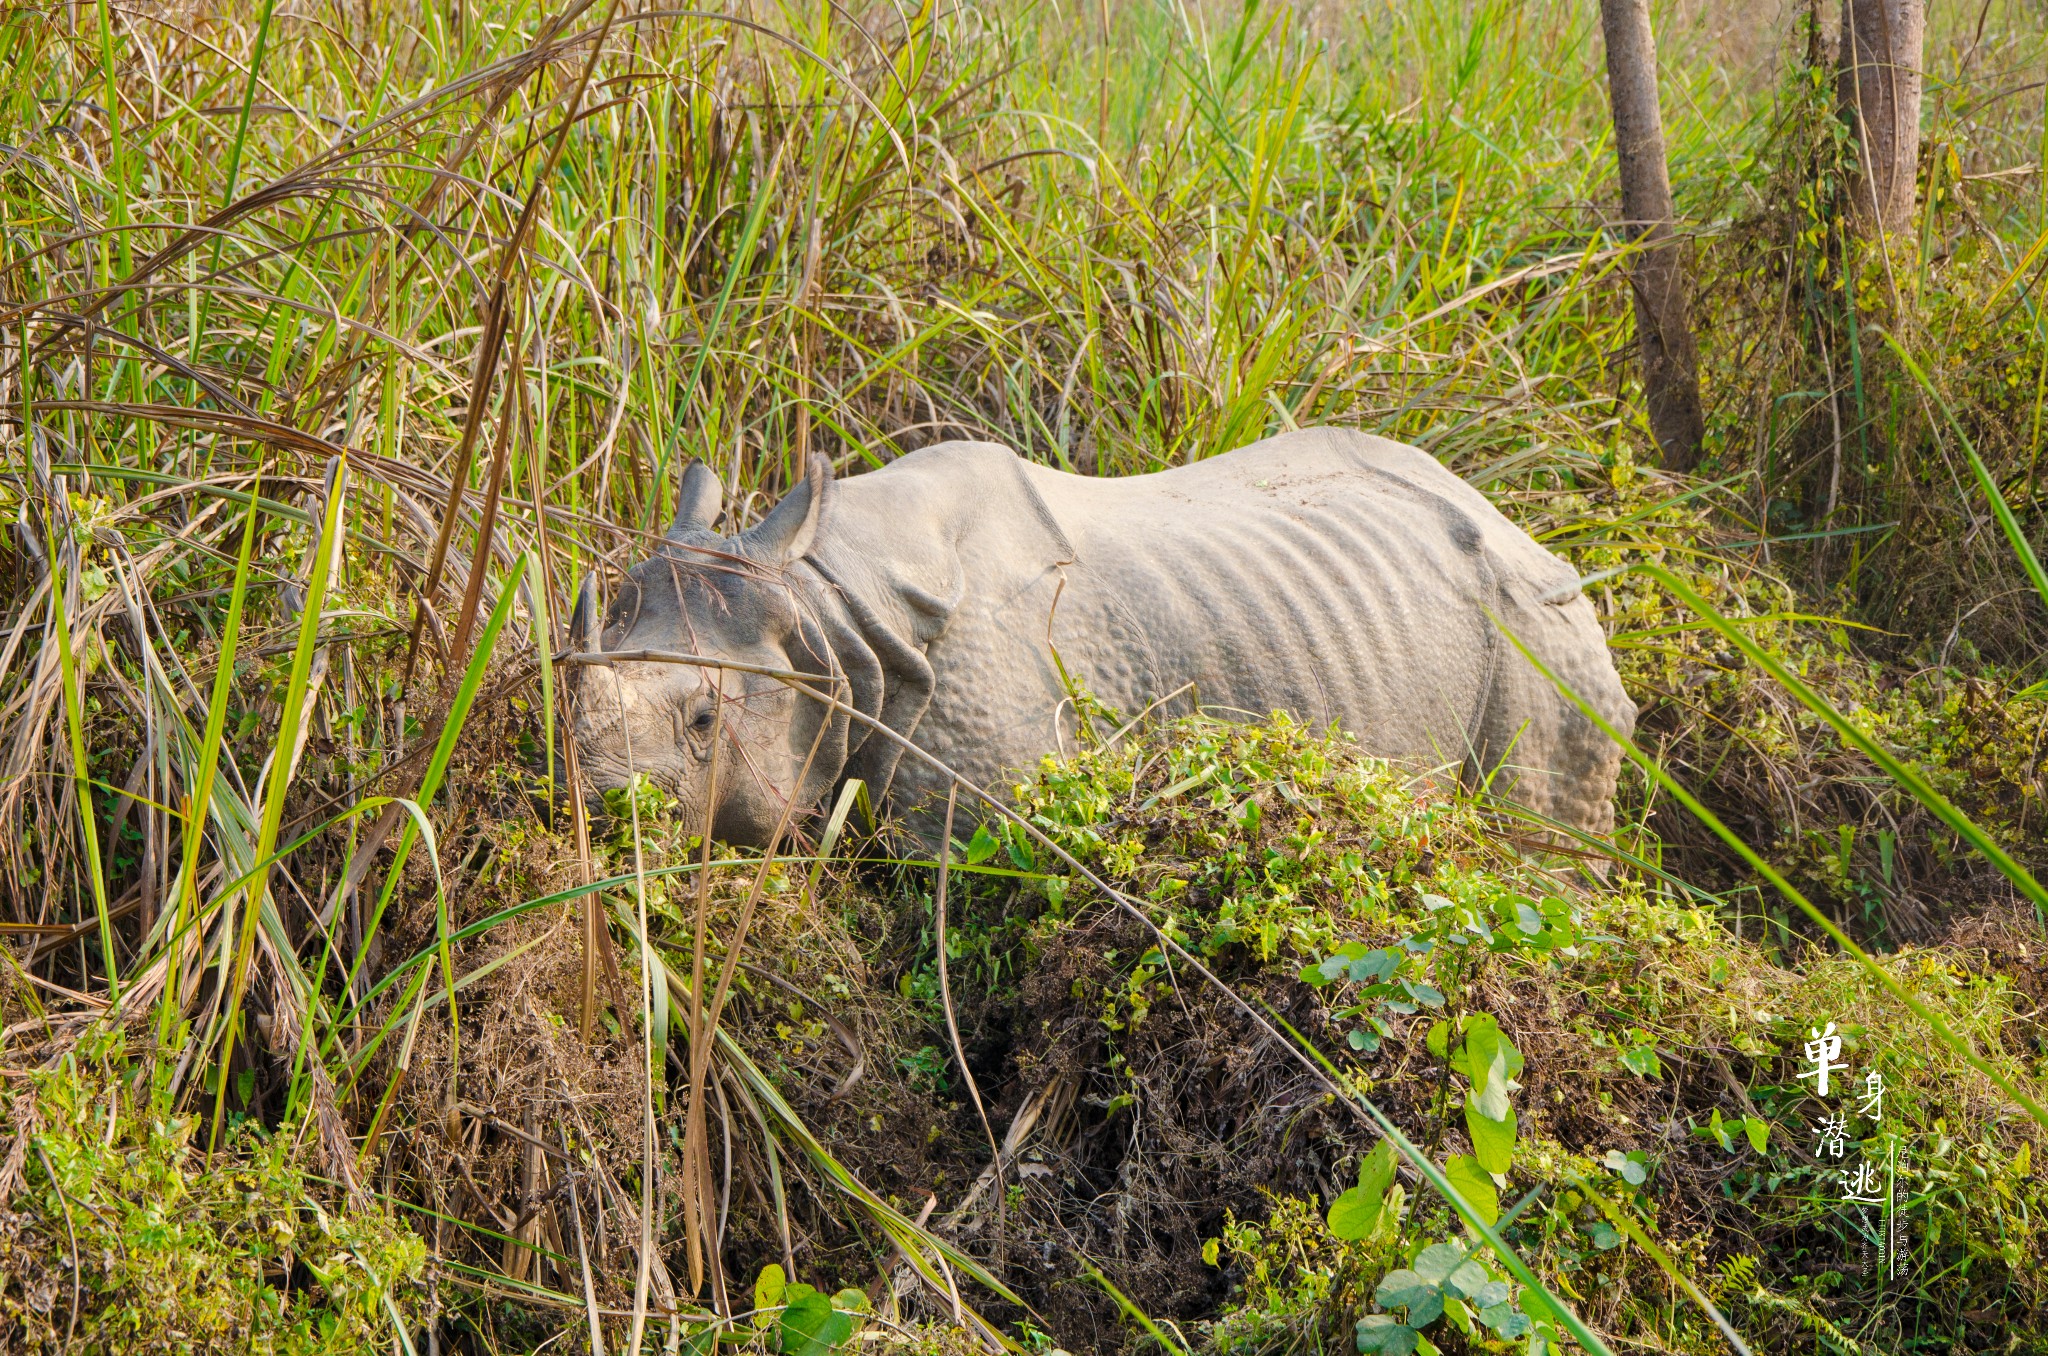
<svg viewBox="0 0 2048 1356">
<path fill-rule="evenodd" d="M 1855 131 L 1855 221 L 1890 236 L 1913 225 L 1919 170 L 1925 0 L 1841 0 L 1841 113 Z"/>
</svg>

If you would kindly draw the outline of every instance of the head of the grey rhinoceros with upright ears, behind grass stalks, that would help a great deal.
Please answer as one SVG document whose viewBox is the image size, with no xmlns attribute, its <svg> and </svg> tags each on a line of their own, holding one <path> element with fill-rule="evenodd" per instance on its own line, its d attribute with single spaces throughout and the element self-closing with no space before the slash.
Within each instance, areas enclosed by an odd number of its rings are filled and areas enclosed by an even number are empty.
<svg viewBox="0 0 2048 1356">
<path fill-rule="evenodd" d="M 713 531 L 719 477 L 692 461 L 668 541 L 627 571 L 602 625 L 596 576 L 584 580 L 571 647 L 829 672 L 823 637 L 786 574 L 809 551 L 829 490 L 829 463 L 811 457 L 803 481 L 766 518 L 723 537 Z M 821 766 L 831 762 L 829 750 L 803 774 L 827 711 L 778 678 L 637 660 L 580 666 L 575 674 L 575 752 L 592 793 L 625 787 L 639 772 L 688 815 L 684 823 L 702 823 L 709 807 L 717 838 L 764 844 L 791 797 L 813 801 L 838 776 L 836 764 Z"/>
</svg>

